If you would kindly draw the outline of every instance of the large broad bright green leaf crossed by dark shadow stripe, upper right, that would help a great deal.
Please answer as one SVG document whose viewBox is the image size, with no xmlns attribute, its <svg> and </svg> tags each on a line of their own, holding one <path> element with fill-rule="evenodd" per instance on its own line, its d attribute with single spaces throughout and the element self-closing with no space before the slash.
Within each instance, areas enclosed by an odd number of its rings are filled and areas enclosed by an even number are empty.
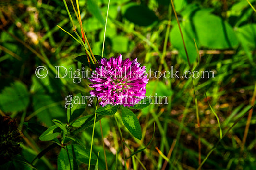
<svg viewBox="0 0 256 170">
<path fill-rule="evenodd" d="M 193 4 L 186 6 L 185 10 L 181 12 L 183 16 L 181 29 L 191 63 L 197 57 L 194 39 L 198 47 L 202 46 L 211 49 L 234 48 L 238 45 L 238 40 L 232 27 L 219 16 L 211 14 L 212 10 L 200 9 Z M 180 56 L 187 60 L 177 24 L 171 30 L 170 40 L 172 45 L 179 51 Z"/>
</svg>

